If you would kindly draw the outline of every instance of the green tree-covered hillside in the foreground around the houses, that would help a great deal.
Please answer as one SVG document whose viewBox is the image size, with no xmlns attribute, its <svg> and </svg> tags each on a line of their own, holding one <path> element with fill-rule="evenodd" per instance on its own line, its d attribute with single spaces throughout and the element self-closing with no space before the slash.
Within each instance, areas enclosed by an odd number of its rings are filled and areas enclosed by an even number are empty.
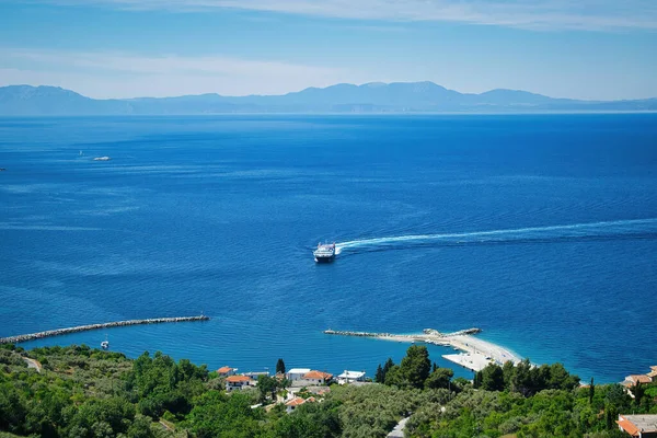
<svg viewBox="0 0 657 438">
<path fill-rule="evenodd" d="M 31 358 L 30 367 L 26 358 Z M 279 360 L 277 367 L 284 366 Z M 261 377 L 227 394 L 205 366 L 87 346 L 0 347 L 0 437 L 385 437 L 410 415 L 412 437 L 616 437 L 619 413 L 657 413 L 657 387 L 579 388 L 563 366 L 489 366 L 473 383 L 452 379 L 414 345 L 362 387 L 331 387 L 286 413 L 289 382 Z"/>
</svg>

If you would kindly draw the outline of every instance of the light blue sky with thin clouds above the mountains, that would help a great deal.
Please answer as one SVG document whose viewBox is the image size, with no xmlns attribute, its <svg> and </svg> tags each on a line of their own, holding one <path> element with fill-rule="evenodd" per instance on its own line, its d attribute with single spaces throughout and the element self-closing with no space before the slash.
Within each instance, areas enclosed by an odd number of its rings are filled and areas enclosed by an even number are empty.
<svg viewBox="0 0 657 438">
<path fill-rule="evenodd" d="M 657 97 L 657 0 L 0 0 L 0 87 L 111 99 L 412 81 Z"/>
</svg>

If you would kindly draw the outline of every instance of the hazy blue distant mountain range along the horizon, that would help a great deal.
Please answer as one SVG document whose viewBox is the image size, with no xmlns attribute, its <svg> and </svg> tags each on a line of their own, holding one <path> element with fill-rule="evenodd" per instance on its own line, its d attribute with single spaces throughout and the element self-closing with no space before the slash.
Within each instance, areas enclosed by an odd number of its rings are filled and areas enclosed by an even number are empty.
<svg viewBox="0 0 657 438">
<path fill-rule="evenodd" d="M 434 82 L 341 83 L 284 95 L 219 94 L 96 100 L 57 87 L 0 88 L 0 115 L 185 115 L 224 113 L 530 113 L 657 111 L 657 99 L 577 101 L 517 90 L 459 93 Z"/>
</svg>

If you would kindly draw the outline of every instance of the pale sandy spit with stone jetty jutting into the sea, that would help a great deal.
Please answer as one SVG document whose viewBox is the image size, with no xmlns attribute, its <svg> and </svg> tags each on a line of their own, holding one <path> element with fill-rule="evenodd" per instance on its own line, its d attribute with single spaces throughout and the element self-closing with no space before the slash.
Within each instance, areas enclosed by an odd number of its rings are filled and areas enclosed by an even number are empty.
<svg viewBox="0 0 657 438">
<path fill-rule="evenodd" d="M 522 358 L 514 351 L 487 342 L 479 339 L 473 335 L 480 333 L 480 328 L 468 328 L 454 333 L 440 333 L 433 328 L 425 328 L 418 334 L 391 334 L 368 332 L 339 332 L 333 330 L 324 331 L 325 334 L 342 336 L 372 337 L 381 341 L 396 341 L 406 343 L 425 343 L 443 347 L 452 347 L 460 353 L 442 355 L 442 358 L 472 371 L 481 371 L 488 364 L 504 365 L 506 361 L 518 364 Z"/>
</svg>

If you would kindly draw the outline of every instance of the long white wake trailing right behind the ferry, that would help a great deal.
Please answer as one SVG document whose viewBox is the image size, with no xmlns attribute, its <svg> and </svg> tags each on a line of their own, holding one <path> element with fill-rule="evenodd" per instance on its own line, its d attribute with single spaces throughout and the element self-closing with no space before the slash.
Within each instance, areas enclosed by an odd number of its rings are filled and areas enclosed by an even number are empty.
<svg viewBox="0 0 657 438">
<path fill-rule="evenodd" d="M 529 227 L 443 234 L 412 234 L 351 240 L 335 244 L 336 253 L 358 249 L 385 249 L 422 244 L 476 244 L 521 241 L 558 241 L 563 239 L 613 239 L 627 237 L 657 238 L 657 218 Z"/>
</svg>

